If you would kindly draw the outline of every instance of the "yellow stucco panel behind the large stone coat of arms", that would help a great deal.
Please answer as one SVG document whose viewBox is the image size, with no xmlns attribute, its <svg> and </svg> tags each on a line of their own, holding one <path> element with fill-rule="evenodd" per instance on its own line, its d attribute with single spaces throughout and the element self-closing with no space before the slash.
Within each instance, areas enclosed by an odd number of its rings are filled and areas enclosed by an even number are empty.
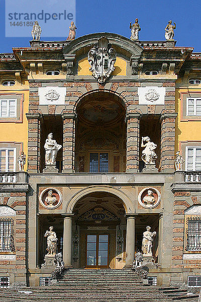
<svg viewBox="0 0 201 302">
<path fill-rule="evenodd" d="M 117 60 L 114 64 L 115 70 L 113 75 L 126 75 L 126 61 L 120 57 L 117 57 Z M 83 58 L 78 62 L 78 75 L 91 75 L 92 72 L 89 71 L 90 65 L 87 58 Z"/>
</svg>

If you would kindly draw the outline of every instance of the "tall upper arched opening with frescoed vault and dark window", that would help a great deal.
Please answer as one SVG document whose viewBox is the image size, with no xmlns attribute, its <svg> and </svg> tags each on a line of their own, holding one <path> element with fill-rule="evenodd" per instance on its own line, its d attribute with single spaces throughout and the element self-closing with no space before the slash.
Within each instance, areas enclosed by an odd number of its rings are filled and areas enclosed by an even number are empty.
<svg viewBox="0 0 201 302">
<path fill-rule="evenodd" d="M 94 92 L 76 107 L 75 171 L 126 171 L 125 104 L 115 94 Z"/>
</svg>

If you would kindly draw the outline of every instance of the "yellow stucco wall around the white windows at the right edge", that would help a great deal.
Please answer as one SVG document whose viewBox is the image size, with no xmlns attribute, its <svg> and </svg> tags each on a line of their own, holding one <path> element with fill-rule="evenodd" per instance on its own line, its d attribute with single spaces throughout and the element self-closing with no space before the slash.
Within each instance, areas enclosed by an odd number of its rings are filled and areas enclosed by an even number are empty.
<svg viewBox="0 0 201 302">
<path fill-rule="evenodd" d="M 201 93 L 201 87 L 200 93 Z M 180 141 L 197 141 L 201 140 L 201 118 L 200 121 L 196 120 L 185 120 L 181 121 L 181 93 L 190 93 L 198 91 L 198 89 L 176 89 L 175 92 L 175 111 L 178 113 L 176 124 L 175 124 L 175 150 L 179 150 Z"/>
</svg>

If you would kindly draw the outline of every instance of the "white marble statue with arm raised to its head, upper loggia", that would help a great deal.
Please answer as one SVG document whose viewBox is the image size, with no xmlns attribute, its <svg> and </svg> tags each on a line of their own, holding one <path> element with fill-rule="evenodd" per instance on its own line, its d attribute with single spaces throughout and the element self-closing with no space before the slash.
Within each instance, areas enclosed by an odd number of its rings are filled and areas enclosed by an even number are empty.
<svg viewBox="0 0 201 302">
<path fill-rule="evenodd" d="M 141 147 L 145 147 L 142 151 L 142 160 L 145 164 L 155 164 L 155 160 L 157 159 L 157 155 L 155 153 L 155 149 L 157 144 L 150 141 L 148 136 L 142 137 Z"/>
</svg>

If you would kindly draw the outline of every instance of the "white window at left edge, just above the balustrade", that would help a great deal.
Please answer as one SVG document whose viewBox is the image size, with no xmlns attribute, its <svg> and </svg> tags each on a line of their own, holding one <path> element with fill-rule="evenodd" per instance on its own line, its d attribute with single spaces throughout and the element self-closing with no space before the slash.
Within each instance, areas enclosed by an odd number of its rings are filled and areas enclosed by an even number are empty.
<svg viewBox="0 0 201 302">
<path fill-rule="evenodd" d="M 16 172 L 16 148 L 0 148 L 0 172 Z"/>
</svg>

